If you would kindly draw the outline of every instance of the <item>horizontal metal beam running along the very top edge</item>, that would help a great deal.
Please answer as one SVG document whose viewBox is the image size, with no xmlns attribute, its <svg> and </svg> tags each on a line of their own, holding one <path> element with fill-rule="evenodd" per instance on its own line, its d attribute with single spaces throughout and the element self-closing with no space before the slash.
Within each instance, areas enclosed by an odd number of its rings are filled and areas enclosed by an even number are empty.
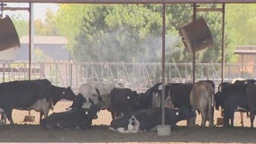
<svg viewBox="0 0 256 144">
<path fill-rule="evenodd" d="M 256 0 L 0 0 L 0 2 L 70 4 L 256 4 Z"/>
</svg>

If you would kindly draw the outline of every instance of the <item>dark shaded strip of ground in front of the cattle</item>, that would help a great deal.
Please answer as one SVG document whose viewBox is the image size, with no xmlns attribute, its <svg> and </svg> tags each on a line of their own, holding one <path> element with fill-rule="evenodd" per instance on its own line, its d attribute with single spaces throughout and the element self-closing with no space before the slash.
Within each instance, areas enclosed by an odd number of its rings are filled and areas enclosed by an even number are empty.
<svg viewBox="0 0 256 144">
<path fill-rule="evenodd" d="M 0 126 L 0 142 L 256 143 L 256 129 L 178 126 L 170 136 L 158 136 L 157 131 L 122 134 L 108 130 L 107 125 L 96 125 L 90 130 L 44 130 L 40 125 L 17 124 Z"/>
</svg>

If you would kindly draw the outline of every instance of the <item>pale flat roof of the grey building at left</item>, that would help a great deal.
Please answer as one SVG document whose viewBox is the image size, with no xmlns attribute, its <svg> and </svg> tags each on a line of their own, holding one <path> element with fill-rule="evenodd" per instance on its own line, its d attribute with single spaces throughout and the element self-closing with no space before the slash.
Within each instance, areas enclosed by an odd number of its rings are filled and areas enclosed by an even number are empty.
<svg viewBox="0 0 256 144">
<path fill-rule="evenodd" d="M 61 36 L 34 36 L 34 43 L 37 44 L 67 44 L 68 40 Z M 29 36 L 22 36 L 21 44 L 29 43 Z"/>
</svg>

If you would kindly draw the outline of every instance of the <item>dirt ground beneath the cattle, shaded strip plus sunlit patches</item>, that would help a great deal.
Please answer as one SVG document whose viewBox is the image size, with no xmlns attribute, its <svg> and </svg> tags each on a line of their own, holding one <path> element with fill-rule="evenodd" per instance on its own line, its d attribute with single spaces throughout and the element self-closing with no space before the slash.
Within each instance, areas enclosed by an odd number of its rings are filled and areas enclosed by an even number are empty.
<svg viewBox="0 0 256 144">
<path fill-rule="evenodd" d="M 63 112 L 71 103 L 59 102 L 54 107 L 54 112 Z M 79 143 L 256 143 L 256 129 L 251 129 L 249 118 L 244 116 L 245 125 L 241 128 L 240 116 L 235 113 L 235 127 L 233 129 L 214 128 L 187 128 L 186 121 L 178 122 L 178 127 L 171 130 L 170 136 L 158 136 L 156 130 L 121 134 L 109 130 L 111 121 L 109 112 L 99 112 L 97 120 L 93 121 L 93 128 L 90 130 L 44 130 L 39 125 L 39 113 L 33 112 L 35 122 L 24 123 L 26 111 L 14 110 L 13 117 L 15 125 L 0 126 L 0 142 L 79 142 Z M 215 112 L 216 118 L 220 116 Z M 200 116 L 197 116 L 197 124 L 200 123 Z M 255 125 L 255 124 L 254 124 Z"/>
</svg>

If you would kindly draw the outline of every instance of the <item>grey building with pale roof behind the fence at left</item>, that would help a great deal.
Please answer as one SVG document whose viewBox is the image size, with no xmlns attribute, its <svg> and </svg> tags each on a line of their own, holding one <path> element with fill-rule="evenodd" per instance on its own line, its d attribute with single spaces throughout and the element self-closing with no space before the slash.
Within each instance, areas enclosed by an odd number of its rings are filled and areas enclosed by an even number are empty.
<svg viewBox="0 0 256 144">
<path fill-rule="evenodd" d="M 69 60 L 68 40 L 60 36 L 34 36 L 34 49 L 40 49 L 49 59 L 44 60 Z M 1 61 L 28 61 L 29 37 L 22 36 L 21 48 L 6 49 L 0 52 Z M 34 50 L 32 50 L 34 51 Z M 34 52 L 32 52 L 34 54 Z M 34 56 L 32 56 L 33 58 Z"/>
</svg>

